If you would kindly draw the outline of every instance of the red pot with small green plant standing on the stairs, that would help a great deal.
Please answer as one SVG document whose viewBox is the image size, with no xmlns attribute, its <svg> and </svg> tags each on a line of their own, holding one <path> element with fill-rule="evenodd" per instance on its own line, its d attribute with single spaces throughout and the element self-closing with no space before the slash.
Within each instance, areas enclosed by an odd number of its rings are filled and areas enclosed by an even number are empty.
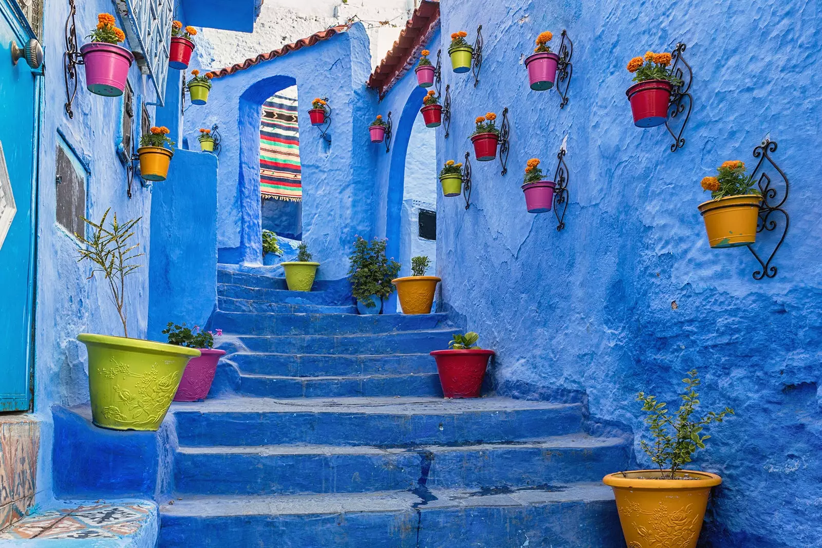
<svg viewBox="0 0 822 548">
<path fill-rule="evenodd" d="M 494 351 L 479 348 L 478 338 L 479 335 L 473 331 L 455 333 L 451 335 L 449 350 L 431 352 L 436 360 L 436 371 L 440 374 L 442 394 L 446 398 L 479 398 L 488 360 Z"/>
</svg>

